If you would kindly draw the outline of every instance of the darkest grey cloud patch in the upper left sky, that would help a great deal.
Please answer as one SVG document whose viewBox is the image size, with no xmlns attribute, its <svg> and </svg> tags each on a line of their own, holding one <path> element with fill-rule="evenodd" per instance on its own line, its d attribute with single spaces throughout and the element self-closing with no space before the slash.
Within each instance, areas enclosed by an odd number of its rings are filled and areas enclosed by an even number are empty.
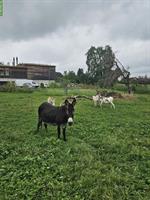
<svg viewBox="0 0 150 200">
<path fill-rule="evenodd" d="M 55 32 L 67 24 L 73 8 L 63 1 L 6 0 L 0 38 L 26 40 Z"/>
</svg>

